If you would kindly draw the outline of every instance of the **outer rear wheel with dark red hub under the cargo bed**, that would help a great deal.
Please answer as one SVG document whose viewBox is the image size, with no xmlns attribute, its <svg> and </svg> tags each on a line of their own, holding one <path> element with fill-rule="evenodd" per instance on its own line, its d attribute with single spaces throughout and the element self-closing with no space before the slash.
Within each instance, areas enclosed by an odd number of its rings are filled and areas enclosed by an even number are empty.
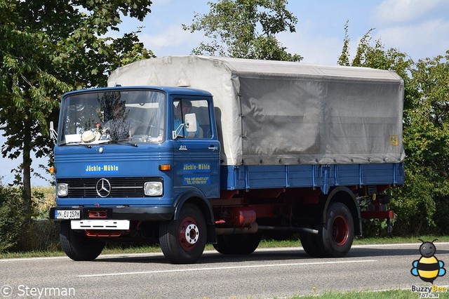
<svg viewBox="0 0 449 299">
<path fill-rule="evenodd" d="M 316 238 L 319 251 L 326 258 L 342 258 L 354 240 L 354 220 L 349 208 L 340 202 L 329 205 L 327 221 Z"/>
</svg>

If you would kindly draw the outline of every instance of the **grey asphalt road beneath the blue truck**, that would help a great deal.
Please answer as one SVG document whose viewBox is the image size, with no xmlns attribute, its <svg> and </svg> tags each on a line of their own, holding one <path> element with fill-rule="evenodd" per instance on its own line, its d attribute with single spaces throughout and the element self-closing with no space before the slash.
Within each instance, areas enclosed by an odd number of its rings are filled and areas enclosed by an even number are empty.
<svg viewBox="0 0 449 299">
<path fill-rule="evenodd" d="M 427 241 L 427 240 L 426 240 Z M 431 241 L 431 240 L 428 240 Z M 449 267 L 449 242 L 435 242 Z M 431 286 L 410 270 L 420 244 L 353 246 L 346 258 L 309 258 L 302 248 L 252 255 L 203 253 L 194 265 L 171 265 L 161 253 L 0 260 L 0 298 L 289 298 L 325 291 Z M 434 284 L 447 286 L 449 274 Z M 59 295 L 59 296 L 58 296 Z"/>
</svg>

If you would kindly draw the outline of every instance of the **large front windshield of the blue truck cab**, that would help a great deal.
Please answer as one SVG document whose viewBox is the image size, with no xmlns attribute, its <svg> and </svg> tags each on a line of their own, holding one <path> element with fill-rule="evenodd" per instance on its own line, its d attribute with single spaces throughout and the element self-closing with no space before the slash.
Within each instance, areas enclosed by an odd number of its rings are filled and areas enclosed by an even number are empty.
<svg viewBox="0 0 449 299">
<path fill-rule="evenodd" d="M 63 98 L 60 145 L 161 142 L 165 94 L 160 91 L 87 91 Z"/>
</svg>

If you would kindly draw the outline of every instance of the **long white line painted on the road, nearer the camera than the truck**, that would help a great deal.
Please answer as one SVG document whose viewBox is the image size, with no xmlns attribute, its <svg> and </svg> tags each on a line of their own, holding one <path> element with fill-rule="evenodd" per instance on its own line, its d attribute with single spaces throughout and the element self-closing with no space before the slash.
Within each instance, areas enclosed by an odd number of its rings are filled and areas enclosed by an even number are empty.
<svg viewBox="0 0 449 299">
<path fill-rule="evenodd" d="M 264 268 L 264 267 L 288 267 L 288 266 L 304 266 L 304 265 L 328 265 L 328 264 L 350 264 L 350 263 L 375 263 L 377 260 L 337 260 L 333 262 L 311 262 L 311 263 L 289 263 L 289 264 L 269 264 L 269 265 L 247 265 L 234 267 L 204 267 L 192 269 L 174 269 L 174 270 L 157 270 L 157 271 L 140 271 L 140 272 L 119 272 L 119 273 L 103 273 L 103 274 L 82 274 L 77 277 L 105 277 L 135 274 L 157 274 L 157 273 L 173 273 L 187 271 L 210 271 L 210 270 L 232 270 L 232 269 L 248 269 L 248 268 Z"/>
</svg>

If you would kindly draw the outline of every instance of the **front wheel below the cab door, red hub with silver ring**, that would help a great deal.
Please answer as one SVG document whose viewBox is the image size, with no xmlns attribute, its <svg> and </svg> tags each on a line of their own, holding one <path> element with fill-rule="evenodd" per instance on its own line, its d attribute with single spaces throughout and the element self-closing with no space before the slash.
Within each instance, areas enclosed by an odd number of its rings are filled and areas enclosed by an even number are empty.
<svg viewBox="0 0 449 299">
<path fill-rule="evenodd" d="M 177 220 L 163 222 L 159 227 L 162 253 L 174 264 L 195 263 L 203 254 L 206 237 L 206 220 L 193 204 L 182 206 Z"/>
</svg>

